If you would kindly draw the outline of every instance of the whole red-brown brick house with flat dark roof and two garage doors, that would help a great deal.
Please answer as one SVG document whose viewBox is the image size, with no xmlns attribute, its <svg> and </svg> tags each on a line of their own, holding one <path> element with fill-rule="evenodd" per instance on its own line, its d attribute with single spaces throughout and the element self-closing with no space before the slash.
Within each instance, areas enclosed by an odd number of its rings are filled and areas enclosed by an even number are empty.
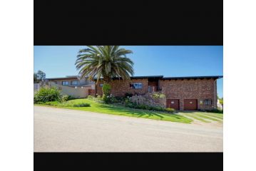
<svg viewBox="0 0 256 171">
<path fill-rule="evenodd" d="M 134 76 L 130 81 L 111 81 L 111 93 L 124 96 L 126 93 L 143 95 L 154 91 L 165 94 L 168 108 L 176 110 L 213 110 L 217 108 L 217 78 L 222 76 Z M 96 93 L 102 95 L 103 82 L 96 86 Z"/>
</svg>

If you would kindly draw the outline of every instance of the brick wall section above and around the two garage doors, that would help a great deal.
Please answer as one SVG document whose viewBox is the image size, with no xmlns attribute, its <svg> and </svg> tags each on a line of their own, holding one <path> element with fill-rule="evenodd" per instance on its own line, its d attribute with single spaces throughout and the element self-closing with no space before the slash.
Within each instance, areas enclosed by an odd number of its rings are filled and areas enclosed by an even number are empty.
<svg viewBox="0 0 256 171">
<path fill-rule="evenodd" d="M 197 99 L 198 109 L 213 110 L 217 104 L 217 86 L 215 79 L 160 80 L 166 99 L 179 99 L 180 110 L 184 109 L 184 99 Z M 205 99 L 213 100 L 212 105 L 204 105 Z M 203 101 L 203 104 L 200 103 Z"/>
</svg>

